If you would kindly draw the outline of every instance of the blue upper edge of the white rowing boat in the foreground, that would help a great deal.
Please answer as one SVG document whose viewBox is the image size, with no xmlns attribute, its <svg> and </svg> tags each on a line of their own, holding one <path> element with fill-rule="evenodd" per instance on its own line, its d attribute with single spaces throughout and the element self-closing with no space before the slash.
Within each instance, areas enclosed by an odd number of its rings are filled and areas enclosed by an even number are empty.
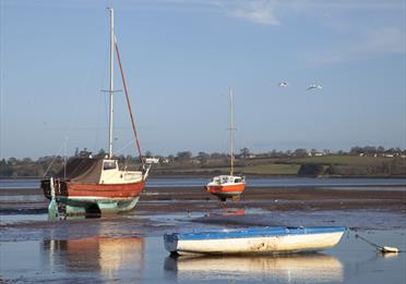
<svg viewBox="0 0 406 284">
<path fill-rule="evenodd" d="M 210 232 L 196 232 L 188 234 L 165 234 L 166 240 L 199 240 L 199 239 L 220 239 L 220 238 L 249 238 L 249 237 L 274 237 L 288 235 L 311 235 L 326 233 L 344 233 L 346 227 L 339 226 L 315 226 L 315 227 L 250 227 L 238 230 L 222 230 Z"/>
</svg>

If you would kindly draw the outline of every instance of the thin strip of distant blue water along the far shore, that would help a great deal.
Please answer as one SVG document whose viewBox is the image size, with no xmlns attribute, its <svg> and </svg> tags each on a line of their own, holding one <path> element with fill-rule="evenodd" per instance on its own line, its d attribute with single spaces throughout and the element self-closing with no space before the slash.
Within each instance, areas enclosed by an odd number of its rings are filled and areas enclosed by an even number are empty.
<svg viewBox="0 0 406 284">
<path fill-rule="evenodd" d="M 187 187 L 203 186 L 208 178 L 148 178 L 150 187 Z M 275 177 L 275 178 L 250 178 L 247 184 L 253 187 L 362 187 L 362 186 L 402 186 L 399 190 L 406 190 L 406 178 L 310 178 L 310 177 Z M 0 189 L 9 188 L 38 188 L 39 180 L 0 180 Z"/>
</svg>

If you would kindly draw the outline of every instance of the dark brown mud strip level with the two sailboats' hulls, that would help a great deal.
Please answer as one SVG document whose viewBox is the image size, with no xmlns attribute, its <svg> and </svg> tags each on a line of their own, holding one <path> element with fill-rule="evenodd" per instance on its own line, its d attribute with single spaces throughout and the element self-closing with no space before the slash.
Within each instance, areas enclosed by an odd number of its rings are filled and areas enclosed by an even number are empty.
<svg viewBox="0 0 406 284">
<path fill-rule="evenodd" d="M 207 211 L 220 208 L 258 208 L 277 211 L 322 211 L 372 209 L 406 213 L 406 190 L 331 189 L 313 187 L 248 187 L 241 199 L 219 202 L 203 187 L 146 188 L 135 207 L 136 211 L 151 214 L 183 211 Z M 0 213 L 46 212 L 48 200 L 40 189 L 13 188 L 0 190 Z"/>
</svg>

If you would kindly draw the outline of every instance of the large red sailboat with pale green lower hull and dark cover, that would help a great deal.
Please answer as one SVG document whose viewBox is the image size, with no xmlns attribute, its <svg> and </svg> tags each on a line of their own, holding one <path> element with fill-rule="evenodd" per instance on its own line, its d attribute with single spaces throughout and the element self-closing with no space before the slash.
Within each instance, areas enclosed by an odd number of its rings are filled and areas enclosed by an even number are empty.
<svg viewBox="0 0 406 284">
<path fill-rule="evenodd" d="M 62 208 L 64 213 L 85 213 L 103 211 L 127 211 L 134 208 L 140 193 L 144 187 L 148 170 L 140 150 L 135 124 L 131 112 L 127 86 L 123 77 L 117 40 L 114 33 L 114 10 L 110 8 L 110 82 L 109 82 L 109 152 L 107 157 L 92 158 L 88 153 L 75 157 L 56 176 L 41 181 L 45 196 L 52 200 L 49 211 Z M 116 52 L 115 52 L 116 50 Z M 127 96 L 136 146 L 140 152 L 142 170 L 120 170 L 112 152 L 112 94 L 114 89 L 114 55 L 117 54 L 121 77 Z"/>
</svg>

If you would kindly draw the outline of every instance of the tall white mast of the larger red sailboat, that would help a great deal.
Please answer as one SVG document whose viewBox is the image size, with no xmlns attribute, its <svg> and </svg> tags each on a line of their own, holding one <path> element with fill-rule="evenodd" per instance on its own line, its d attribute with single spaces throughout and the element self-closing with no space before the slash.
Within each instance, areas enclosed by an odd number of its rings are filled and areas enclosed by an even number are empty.
<svg viewBox="0 0 406 284">
<path fill-rule="evenodd" d="M 112 94 L 115 92 L 114 71 L 115 71 L 115 11 L 108 8 L 110 12 L 110 86 L 109 86 L 109 116 L 108 116 L 108 158 L 112 158 Z"/>
</svg>

